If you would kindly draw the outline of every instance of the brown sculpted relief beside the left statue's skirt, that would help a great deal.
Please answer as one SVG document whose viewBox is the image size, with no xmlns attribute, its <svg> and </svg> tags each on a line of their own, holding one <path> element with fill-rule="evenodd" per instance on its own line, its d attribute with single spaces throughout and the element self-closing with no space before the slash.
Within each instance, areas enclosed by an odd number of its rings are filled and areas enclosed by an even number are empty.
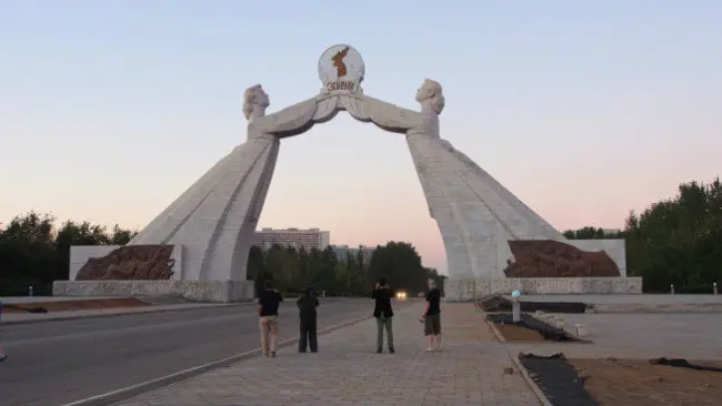
<svg viewBox="0 0 722 406">
<path fill-rule="evenodd" d="M 166 281 L 173 276 L 172 245 L 127 245 L 90 258 L 77 281 Z"/>
</svg>

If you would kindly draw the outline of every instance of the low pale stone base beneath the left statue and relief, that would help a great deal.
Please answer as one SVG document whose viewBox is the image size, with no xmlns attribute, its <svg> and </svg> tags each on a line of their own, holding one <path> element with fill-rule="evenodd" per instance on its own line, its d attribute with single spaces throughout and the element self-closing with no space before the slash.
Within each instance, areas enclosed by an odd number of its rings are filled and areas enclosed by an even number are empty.
<svg viewBox="0 0 722 406">
<path fill-rule="evenodd" d="M 249 302 L 253 281 L 56 281 L 53 296 L 181 296 L 194 302 Z"/>
</svg>

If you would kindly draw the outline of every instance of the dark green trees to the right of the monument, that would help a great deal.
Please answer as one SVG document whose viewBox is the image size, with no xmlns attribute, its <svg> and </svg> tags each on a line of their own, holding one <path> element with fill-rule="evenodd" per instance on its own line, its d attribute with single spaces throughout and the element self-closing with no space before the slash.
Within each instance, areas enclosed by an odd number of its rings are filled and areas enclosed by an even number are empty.
<svg viewBox="0 0 722 406">
<path fill-rule="evenodd" d="M 642 276 L 645 292 L 712 293 L 722 282 L 722 184 L 688 182 L 674 197 L 636 214 L 624 229 L 605 234 L 592 226 L 566 231 L 568 238 L 624 238 L 629 276 Z"/>
</svg>

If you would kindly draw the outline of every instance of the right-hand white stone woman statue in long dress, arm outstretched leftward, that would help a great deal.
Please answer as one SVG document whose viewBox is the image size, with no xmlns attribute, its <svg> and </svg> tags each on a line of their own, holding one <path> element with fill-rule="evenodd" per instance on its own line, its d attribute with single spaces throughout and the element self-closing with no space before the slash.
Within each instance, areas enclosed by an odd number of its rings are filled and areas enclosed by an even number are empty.
<svg viewBox="0 0 722 406">
<path fill-rule="evenodd" d="M 407 135 L 429 212 L 444 241 L 450 276 L 503 277 L 503 260 L 511 256 L 508 240 L 561 236 L 441 138 L 439 115 L 445 99 L 439 82 L 424 80 L 415 100 L 420 112 L 368 97 L 365 108 L 377 125 Z"/>
</svg>

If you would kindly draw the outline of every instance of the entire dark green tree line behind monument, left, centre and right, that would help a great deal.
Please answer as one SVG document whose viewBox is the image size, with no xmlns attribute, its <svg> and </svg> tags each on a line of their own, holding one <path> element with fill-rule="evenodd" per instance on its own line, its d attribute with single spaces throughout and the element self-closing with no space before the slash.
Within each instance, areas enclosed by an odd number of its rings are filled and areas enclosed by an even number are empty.
<svg viewBox="0 0 722 406">
<path fill-rule="evenodd" d="M 56 227 L 50 214 L 30 212 L 0 224 L 0 296 L 50 294 L 52 282 L 67 280 L 71 245 L 123 245 L 136 231 L 67 221 Z M 688 182 L 674 197 L 653 203 L 641 213 L 630 212 L 616 234 L 585 226 L 565 231 L 568 238 L 624 238 L 629 276 L 642 276 L 645 292 L 711 293 L 722 282 L 722 184 Z M 362 254 L 338 258 L 331 247 L 295 250 L 274 245 L 252 247 L 248 277 L 257 284 L 273 278 L 284 292 L 308 285 L 335 294 L 368 294 L 385 275 L 389 284 L 422 291 L 435 270 L 421 265 L 409 243 L 390 242 L 377 247 L 368 264 Z M 440 281 L 442 282 L 442 281 Z"/>
</svg>

